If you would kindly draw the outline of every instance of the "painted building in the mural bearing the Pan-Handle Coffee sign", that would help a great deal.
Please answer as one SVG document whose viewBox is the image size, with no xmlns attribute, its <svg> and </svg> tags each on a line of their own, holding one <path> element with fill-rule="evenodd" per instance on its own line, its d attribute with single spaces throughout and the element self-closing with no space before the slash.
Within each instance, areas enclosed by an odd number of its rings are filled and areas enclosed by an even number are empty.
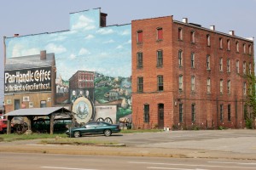
<svg viewBox="0 0 256 170">
<path fill-rule="evenodd" d="M 4 66 L 5 111 L 55 106 L 55 54 L 6 59 Z"/>
</svg>

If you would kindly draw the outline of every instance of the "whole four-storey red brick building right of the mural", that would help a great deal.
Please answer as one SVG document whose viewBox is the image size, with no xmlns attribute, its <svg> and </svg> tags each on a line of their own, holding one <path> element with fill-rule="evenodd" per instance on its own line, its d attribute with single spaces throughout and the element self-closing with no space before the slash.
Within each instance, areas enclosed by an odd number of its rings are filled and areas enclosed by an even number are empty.
<svg viewBox="0 0 256 170">
<path fill-rule="evenodd" d="M 241 128 L 253 40 L 172 16 L 131 21 L 135 128 Z"/>
</svg>

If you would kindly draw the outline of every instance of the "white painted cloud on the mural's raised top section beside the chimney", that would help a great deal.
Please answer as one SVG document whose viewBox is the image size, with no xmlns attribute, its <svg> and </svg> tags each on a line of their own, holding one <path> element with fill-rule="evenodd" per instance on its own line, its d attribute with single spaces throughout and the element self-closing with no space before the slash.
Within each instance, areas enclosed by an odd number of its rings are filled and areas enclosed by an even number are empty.
<svg viewBox="0 0 256 170">
<path fill-rule="evenodd" d="M 81 15 L 79 17 L 79 20 L 76 24 L 72 26 L 72 29 L 77 30 L 77 29 L 85 29 L 85 30 L 91 30 L 94 29 L 94 20 L 91 20 L 90 18 Z"/>
</svg>

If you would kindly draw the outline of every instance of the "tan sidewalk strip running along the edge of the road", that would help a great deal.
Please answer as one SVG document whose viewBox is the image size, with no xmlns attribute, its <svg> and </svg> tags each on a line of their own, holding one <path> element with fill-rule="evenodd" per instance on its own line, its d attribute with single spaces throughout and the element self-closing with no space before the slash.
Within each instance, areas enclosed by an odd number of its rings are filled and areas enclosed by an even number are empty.
<svg viewBox="0 0 256 170">
<path fill-rule="evenodd" d="M 212 151 L 203 149 L 173 149 L 165 147 L 137 146 L 91 146 L 69 144 L 38 144 L 38 140 L 0 143 L 0 152 L 23 152 L 67 155 L 101 155 L 101 156 L 157 156 L 176 158 L 225 158 L 256 160 L 254 153 L 235 153 L 229 151 Z"/>
</svg>

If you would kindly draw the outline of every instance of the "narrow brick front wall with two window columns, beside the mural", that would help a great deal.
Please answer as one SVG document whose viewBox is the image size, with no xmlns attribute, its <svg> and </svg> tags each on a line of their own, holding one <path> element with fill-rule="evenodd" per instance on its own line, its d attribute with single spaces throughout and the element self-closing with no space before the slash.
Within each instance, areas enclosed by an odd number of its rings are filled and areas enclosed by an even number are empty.
<svg viewBox="0 0 256 170">
<path fill-rule="evenodd" d="M 164 104 L 164 126 L 172 126 L 172 16 L 133 20 L 132 32 L 132 111 L 134 127 L 158 125 L 158 104 Z M 163 40 L 157 41 L 157 28 L 163 29 Z M 137 31 L 143 31 L 143 42 L 137 43 Z M 163 66 L 157 67 L 157 50 L 163 50 Z M 137 52 L 143 52 L 143 68 L 137 69 Z M 164 77 L 164 92 L 157 91 L 157 76 Z M 137 77 L 143 77 L 143 94 L 137 94 Z M 150 120 L 143 122 L 143 106 L 150 107 Z"/>
</svg>

